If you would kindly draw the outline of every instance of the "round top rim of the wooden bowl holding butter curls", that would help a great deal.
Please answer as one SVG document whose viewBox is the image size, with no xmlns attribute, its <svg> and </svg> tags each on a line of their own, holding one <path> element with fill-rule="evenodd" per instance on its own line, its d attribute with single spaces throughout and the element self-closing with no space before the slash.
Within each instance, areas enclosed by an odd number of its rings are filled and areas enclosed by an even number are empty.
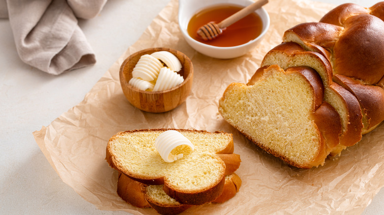
<svg viewBox="0 0 384 215">
<path fill-rule="evenodd" d="M 175 52 L 175 53 L 179 53 L 181 55 L 184 56 L 184 58 L 188 61 L 190 61 L 190 65 L 191 65 L 191 69 L 190 69 L 190 72 L 188 74 L 188 76 L 186 78 L 184 78 L 184 81 L 180 84 L 178 84 L 177 86 L 174 86 L 170 89 L 167 89 L 167 90 L 162 90 L 162 91 L 145 91 L 145 90 L 140 90 L 132 85 L 129 84 L 129 80 L 126 79 L 125 75 L 124 75 L 124 68 L 125 66 L 128 64 L 129 60 L 136 56 L 136 55 L 139 55 L 141 53 L 148 53 L 148 52 L 151 52 L 151 51 L 154 51 L 156 49 L 159 49 L 159 51 L 172 51 L 172 52 Z M 159 52 L 158 51 L 158 52 Z M 156 52 L 156 51 L 155 51 Z M 172 53 L 171 52 L 171 53 Z M 154 53 L 154 52 L 153 52 Z M 173 53 L 172 53 L 173 54 Z M 141 54 L 140 56 L 142 56 L 144 54 Z M 137 63 L 137 62 L 136 62 Z M 183 65 L 184 67 L 184 65 Z M 121 64 L 120 66 L 120 71 L 119 71 L 119 78 L 120 78 L 120 81 L 124 80 L 124 82 L 127 84 L 127 87 L 130 88 L 131 90 L 133 91 L 136 91 L 136 92 L 139 92 L 139 93 L 144 93 L 144 94 L 164 94 L 164 93 L 168 93 L 168 92 L 171 92 L 171 91 L 174 91 L 178 88 L 180 88 L 182 85 L 185 85 L 188 81 L 190 81 L 190 79 L 192 78 L 193 76 L 193 65 L 192 65 L 192 61 L 191 59 L 184 53 L 178 51 L 178 50 L 175 50 L 175 49 L 172 49 L 172 48 L 166 48 L 166 47 L 154 47 L 154 48 L 148 48 L 148 49 L 143 49 L 143 50 L 140 50 L 140 51 L 137 51 L 133 54 L 130 54 L 124 61 L 123 63 Z"/>
</svg>

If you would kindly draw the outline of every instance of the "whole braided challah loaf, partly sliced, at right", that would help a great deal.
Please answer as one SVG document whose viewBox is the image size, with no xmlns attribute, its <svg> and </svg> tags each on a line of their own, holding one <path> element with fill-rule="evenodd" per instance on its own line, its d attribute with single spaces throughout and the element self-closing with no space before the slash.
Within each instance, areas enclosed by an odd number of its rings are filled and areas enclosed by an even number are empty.
<svg viewBox="0 0 384 215">
<path fill-rule="evenodd" d="M 342 4 L 288 29 L 247 84 L 219 101 L 223 118 L 299 168 L 360 141 L 384 120 L 384 2 Z"/>
</svg>

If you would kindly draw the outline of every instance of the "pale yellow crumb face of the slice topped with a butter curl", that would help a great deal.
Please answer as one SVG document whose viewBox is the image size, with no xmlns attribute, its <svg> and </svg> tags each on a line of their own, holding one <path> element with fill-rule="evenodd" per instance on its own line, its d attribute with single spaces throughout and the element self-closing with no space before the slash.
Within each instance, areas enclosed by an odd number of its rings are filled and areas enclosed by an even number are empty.
<svg viewBox="0 0 384 215">
<path fill-rule="evenodd" d="M 164 183 L 174 190 L 201 191 L 217 185 L 224 177 L 225 164 L 215 154 L 233 144 L 232 135 L 180 131 L 194 145 L 183 157 L 172 163 L 162 160 L 154 146 L 161 130 L 120 133 L 108 142 L 107 150 L 115 158 L 114 165 L 132 177 L 152 179 L 164 177 Z M 176 152 L 177 153 L 177 152 Z"/>
</svg>

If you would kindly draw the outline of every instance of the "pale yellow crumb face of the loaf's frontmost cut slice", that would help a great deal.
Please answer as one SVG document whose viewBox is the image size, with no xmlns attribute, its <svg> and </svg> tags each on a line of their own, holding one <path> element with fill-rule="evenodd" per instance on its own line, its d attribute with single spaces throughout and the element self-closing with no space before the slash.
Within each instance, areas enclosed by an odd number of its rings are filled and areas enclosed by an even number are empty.
<svg viewBox="0 0 384 215">
<path fill-rule="evenodd" d="M 254 85 L 231 84 L 220 100 L 224 119 L 253 141 L 299 166 L 319 153 L 320 134 L 309 115 L 313 92 L 295 73 L 269 70 Z"/>
</svg>

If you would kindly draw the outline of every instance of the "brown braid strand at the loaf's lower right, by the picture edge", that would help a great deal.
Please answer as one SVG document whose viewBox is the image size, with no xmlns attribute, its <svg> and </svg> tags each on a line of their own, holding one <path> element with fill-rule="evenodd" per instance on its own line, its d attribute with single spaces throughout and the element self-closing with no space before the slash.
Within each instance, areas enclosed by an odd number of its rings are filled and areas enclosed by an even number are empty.
<svg viewBox="0 0 384 215">
<path fill-rule="evenodd" d="M 359 101 L 366 122 L 362 134 L 368 133 L 384 120 L 384 89 L 382 87 L 365 85 L 361 81 L 343 75 L 334 75 L 333 79 Z"/>
</svg>

